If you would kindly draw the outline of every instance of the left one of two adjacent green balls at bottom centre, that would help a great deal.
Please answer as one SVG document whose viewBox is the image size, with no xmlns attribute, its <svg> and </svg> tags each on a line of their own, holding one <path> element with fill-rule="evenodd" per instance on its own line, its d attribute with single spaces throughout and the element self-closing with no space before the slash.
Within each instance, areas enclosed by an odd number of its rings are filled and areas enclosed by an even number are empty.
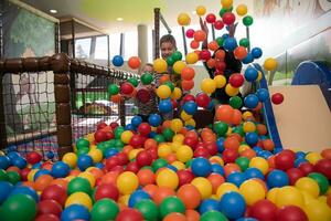
<svg viewBox="0 0 331 221">
<path fill-rule="evenodd" d="M 135 204 L 135 209 L 143 215 L 145 220 L 158 220 L 159 209 L 152 200 L 143 199 Z"/>
</svg>

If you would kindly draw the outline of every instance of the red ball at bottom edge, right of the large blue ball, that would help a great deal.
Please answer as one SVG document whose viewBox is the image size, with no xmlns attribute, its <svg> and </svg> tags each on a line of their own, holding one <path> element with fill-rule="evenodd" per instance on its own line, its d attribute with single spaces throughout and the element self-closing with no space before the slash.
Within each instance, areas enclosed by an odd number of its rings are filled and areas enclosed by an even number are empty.
<svg viewBox="0 0 331 221">
<path fill-rule="evenodd" d="M 257 220 L 269 221 L 276 220 L 277 211 L 276 204 L 269 200 L 259 200 L 250 207 L 249 214 Z"/>
</svg>

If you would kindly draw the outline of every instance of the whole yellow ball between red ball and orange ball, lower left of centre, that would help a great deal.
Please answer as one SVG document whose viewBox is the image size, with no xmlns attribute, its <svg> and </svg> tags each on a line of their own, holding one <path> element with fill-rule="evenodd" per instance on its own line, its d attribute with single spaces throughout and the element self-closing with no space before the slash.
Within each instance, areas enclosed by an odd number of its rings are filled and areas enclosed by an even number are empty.
<svg viewBox="0 0 331 221">
<path fill-rule="evenodd" d="M 121 194 L 130 194 L 138 188 L 139 180 L 134 172 L 125 171 L 117 177 L 116 185 Z"/>
</svg>

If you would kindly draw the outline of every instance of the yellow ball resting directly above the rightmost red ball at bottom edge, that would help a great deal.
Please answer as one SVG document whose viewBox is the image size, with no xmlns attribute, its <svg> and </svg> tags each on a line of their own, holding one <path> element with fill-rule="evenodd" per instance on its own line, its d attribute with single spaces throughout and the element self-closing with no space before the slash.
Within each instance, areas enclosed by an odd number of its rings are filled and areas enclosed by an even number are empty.
<svg viewBox="0 0 331 221">
<path fill-rule="evenodd" d="M 305 208 L 305 199 L 302 193 L 295 187 L 286 186 L 278 190 L 276 197 L 276 206 L 282 208 L 285 206 L 293 204 L 301 209 Z"/>
</svg>

